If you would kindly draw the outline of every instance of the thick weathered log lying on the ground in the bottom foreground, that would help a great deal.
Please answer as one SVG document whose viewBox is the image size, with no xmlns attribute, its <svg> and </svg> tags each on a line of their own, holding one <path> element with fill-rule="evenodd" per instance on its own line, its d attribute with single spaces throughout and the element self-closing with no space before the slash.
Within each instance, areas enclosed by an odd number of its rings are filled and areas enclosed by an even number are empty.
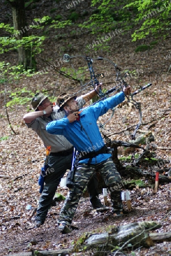
<svg viewBox="0 0 171 256">
<path fill-rule="evenodd" d="M 149 237 L 149 230 L 158 229 L 161 225 L 155 221 L 135 222 L 128 225 L 114 227 L 110 232 L 92 234 L 85 240 L 87 249 L 111 250 L 115 246 L 127 248 L 128 244 L 134 248 L 153 245 Z"/>
</svg>

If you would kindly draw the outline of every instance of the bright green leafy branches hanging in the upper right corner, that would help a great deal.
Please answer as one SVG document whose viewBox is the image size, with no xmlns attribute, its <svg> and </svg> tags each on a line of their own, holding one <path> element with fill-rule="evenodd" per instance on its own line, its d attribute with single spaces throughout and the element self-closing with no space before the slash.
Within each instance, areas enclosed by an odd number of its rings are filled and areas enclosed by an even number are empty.
<svg viewBox="0 0 171 256">
<path fill-rule="evenodd" d="M 91 5 L 96 7 L 89 20 L 80 24 L 80 27 L 91 30 L 93 34 L 109 32 L 112 27 L 119 27 L 127 32 L 134 29 L 132 40 L 143 39 L 149 34 L 165 38 L 170 32 L 169 0 L 145 1 L 116 1 L 92 0 Z M 135 28 L 136 27 L 136 28 Z"/>
</svg>

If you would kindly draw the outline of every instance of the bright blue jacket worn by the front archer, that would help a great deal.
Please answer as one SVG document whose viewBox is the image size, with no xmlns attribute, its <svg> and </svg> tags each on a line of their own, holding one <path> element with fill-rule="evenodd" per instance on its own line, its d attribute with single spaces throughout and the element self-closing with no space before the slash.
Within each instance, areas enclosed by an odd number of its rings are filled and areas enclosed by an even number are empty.
<svg viewBox="0 0 171 256">
<path fill-rule="evenodd" d="M 99 116 L 105 114 L 109 109 L 114 108 L 124 101 L 124 93 L 120 92 L 106 100 L 99 101 L 94 105 L 80 110 L 80 121 L 69 122 L 67 117 L 52 121 L 46 126 L 51 134 L 64 135 L 66 139 L 78 151 L 93 152 L 100 150 L 104 145 L 103 138 L 97 125 Z M 100 154 L 91 160 L 91 164 L 101 163 L 111 154 Z M 80 163 L 87 163 L 89 159 L 81 160 Z"/>
</svg>

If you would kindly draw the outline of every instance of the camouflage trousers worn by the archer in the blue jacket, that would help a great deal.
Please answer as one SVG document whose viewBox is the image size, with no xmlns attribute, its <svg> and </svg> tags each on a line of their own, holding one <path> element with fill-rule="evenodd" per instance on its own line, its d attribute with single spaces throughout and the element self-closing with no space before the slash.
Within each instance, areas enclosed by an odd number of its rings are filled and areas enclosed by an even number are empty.
<svg viewBox="0 0 171 256">
<path fill-rule="evenodd" d="M 114 210 L 122 209 L 121 200 L 121 188 L 122 179 L 119 172 L 116 170 L 115 164 L 112 159 L 109 158 L 106 161 L 98 164 L 79 164 L 77 166 L 76 174 L 74 175 L 74 187 L 70 189 L 65 203 L 60 211 L 60 217 L 58 223 L 65 223 L 70 225 L 74 214 L 76 212 L 82 191 L 86 187 L 87 183 L 95 173 L 95 171 L 101 172 L 101 175 L 105 181 L 105 184 L 110 190 L 111 204 Z"/>
</svg>

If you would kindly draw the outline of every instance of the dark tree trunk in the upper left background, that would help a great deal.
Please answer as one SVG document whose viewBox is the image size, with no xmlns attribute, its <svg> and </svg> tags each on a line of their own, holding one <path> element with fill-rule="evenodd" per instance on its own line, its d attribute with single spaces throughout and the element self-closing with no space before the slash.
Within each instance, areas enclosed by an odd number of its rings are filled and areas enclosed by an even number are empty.
<svg viewBox="0 0 171 256">
<path fill-rule="evenodd" d="M 21 40 L 23 37 L 28 36 L 28 26 L 26 26 L 26 14 L 25 14 L 25 1 L 24 0 L 9 0 L 12 6 L 12 18 L 14 23 L 15 38 Z M 20 46 L 17 48 L 18 51 L 18 64 L 23 65 L 23 68 L 27 70 L 28 67 L 31 68 L 31 49 Z"/>
</svg>

